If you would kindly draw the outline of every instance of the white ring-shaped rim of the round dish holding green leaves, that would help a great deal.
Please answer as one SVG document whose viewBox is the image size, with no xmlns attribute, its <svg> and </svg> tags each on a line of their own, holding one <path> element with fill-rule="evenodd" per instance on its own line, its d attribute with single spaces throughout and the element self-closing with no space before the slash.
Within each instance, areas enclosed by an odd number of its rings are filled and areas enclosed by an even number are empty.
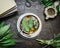
<svg viewBox="0 0 60 48">
<path fill-rule="evenodd" d="M 30 34 L 30 35 L 27 35 L 27 34 L 23 33 L 23 32 L 21 31 L 21 29 L 20 29 L 21 20 L 23 19 L 23 17 L 25 17 L 25 16 L 27 16 L 27 15 L 33 15 L 33 16 L 35 16 L 35 17 L 38 19 L 38 21 L 39 21 L 39 28 L 37 29 L 37 31 L 35 31 L 34 33 L 32 33 L 32 34 Z M 18 32 L 19 32 L 22 36 L 24 36 L 24 37 L 26 37 L 26 38 L 33 38 L 33 37 L 36 37 L 36 36 L 41 32 L 42 22 L 41 22 L 40 18 L 39 18 L 37 15 L 35 15 L 35 14 L 33 14 L 33 13 L 25 13 L 25 14 L 22 14 L 22 15 L 19 17 L 19 19 L 18 19 L 18 21 L 17 21 L 17 29 L 18 29 Z"/>
</svg>

